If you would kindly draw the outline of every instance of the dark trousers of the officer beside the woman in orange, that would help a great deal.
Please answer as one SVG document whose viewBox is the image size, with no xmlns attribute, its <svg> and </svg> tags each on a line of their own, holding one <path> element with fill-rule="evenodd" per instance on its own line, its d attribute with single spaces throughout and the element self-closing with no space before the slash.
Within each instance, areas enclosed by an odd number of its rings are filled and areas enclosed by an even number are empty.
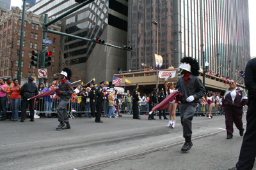
<svg viewBox="0 0 256 170">
<path fill-rule="evenodd" d="M 30 111 L 30 118 L 34 119 L 34 115 L 35 115 L 35 99 L 31 99 L 28 101 L 28 99 L 30 97 L 33 96 L 27 96 L 24 97 L 22 100 L 22 105 L 21 105 L 21 120 L 25 120 L 26 119 L 26 113 L 27 113 L 27 108 L 28 108 L 28 104 L 29 104 L 29 111 Z"/>
</svg>

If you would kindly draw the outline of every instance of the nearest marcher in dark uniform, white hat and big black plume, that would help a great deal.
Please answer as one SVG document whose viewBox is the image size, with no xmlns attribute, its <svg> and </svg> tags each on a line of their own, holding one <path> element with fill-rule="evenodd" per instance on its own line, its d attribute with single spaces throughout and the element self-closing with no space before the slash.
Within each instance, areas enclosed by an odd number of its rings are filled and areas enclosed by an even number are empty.
<svg viewBox="0 0 256 170">
<path fill-rule="evenodd" d="M 202 81 L 198 78 L 199 64 L 197 60 L 192 57 L 184 57 L 180 62 L 179 68 L 182 69 L 180 74 L 184 74 L 184 76 L 179 78 L 175 89 L 179 90 L 182 94 L 180 101 L 180 122 L 183 126 L 185 144 L 182 146 L 181 151 L 186 152 L 193 146 L 191 141 L 192 120 L 199 99 L 205 95 L 205 89 Z"/>
</svg>

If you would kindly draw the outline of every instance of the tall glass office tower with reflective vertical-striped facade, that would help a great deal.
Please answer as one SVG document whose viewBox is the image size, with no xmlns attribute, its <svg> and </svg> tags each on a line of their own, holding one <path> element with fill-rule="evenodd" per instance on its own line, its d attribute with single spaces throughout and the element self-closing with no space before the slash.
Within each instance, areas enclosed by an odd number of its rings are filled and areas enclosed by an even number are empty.
<svg viewBox="0 0 256 170">
<path fill-rule="evenodd" d="M 250 60 L 248 16 L 248 0 L 129 1 L 127 69 L 155 66 L 158 43 L 163 68 L 184 56 L 203 66 L 204 53 L 209 69 L 234 77 Z"/>
</svg>

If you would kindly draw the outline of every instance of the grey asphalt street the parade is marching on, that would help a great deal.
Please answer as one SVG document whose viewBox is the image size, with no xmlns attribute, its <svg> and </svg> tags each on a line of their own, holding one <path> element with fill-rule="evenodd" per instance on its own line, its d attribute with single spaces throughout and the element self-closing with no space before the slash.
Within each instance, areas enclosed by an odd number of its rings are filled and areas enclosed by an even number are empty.
<svg viewBox="0 0 256 170">
<path fill-rule="evenodd" d="M 0 122 L 1 169 L 234 169 L 243 138 L 234 128 L 226 139 L 224 116 L 195 117 L 186 153 L 180 152 L 180 117 L 175 129 L 167 120 L 147 118 L 104 117 L 103 124 L 75 118 L 65 131 L 56 131 L 57 118 Z"/>
</svg>

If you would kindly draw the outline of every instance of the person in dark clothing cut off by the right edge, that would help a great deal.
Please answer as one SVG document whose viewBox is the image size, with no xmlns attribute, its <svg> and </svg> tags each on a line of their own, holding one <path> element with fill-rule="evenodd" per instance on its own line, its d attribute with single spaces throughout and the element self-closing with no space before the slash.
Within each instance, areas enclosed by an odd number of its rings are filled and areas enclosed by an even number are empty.
<svg viewBox="0 0 256 170">
<path fill-rule="evenodd" d="M 248 89 L 247 124 L 239 160 L 236 164 L 237 170 L 253 169 L 256 157 L 256 58 L 247 63 L 244 82 Z"/>
</svg>

